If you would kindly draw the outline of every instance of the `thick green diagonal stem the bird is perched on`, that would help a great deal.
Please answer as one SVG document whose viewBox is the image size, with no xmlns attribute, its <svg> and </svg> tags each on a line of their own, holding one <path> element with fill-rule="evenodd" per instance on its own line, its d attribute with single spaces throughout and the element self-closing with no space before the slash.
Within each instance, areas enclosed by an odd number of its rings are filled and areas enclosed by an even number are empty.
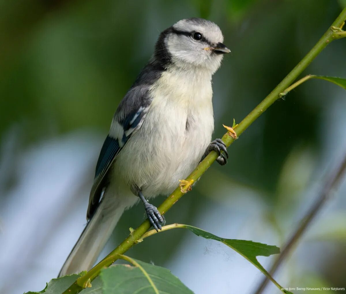
<svg viewBox="0 0 346 294">
<path fill-rule="evenodd" d="M 340 28 L 346 19 L 346 8 L 340 13 L 337 19 L 332 24 L 333 27 Z M 307 66 L 315 59 L 315 57 L 334 39 L 338 38 L 338 34 L 342 32 L 335 32 L 331 27 L 328 28 L 327 32 L 320 38 L 315 46 L 309 51 L 309 53 L 295 66 L 295 68 L 278 84 L 275 89 L 260 103 L 258 106 L 249 113 L 242 122 L 236 127 L 235 131 L 239 137 L 265 110 L 271 106 L 278 98 L 280 93 L 283 92 L 290 84 L 307 68 Z M 340 36 L 341 37 L 341 36 Z M 235 139 L 227 132 L 222 140 L 225 142 L 227 147 L 231 145 Z M 218 154 L 215 151 L 210 152 L 206 158 L 198 165 L 198 167 L 186 178 L 186 181 L 197 181 L 204 172 L 211 166 L 216 160 Z M 177 187 L 174 192 L 165 199 L 165 201 L 158 207 L 161 214 L 165 214 L 182 196 L 184 193 L 181 192 L 180 188 Z M 76 294 L 82 291 L 88 281 L 92 281 L 100 273 L 100 270 L 104 267 L 110 266 L 115 260 L 116 255 L 120 255 L 129 250 L 132 246 L 138 243 L 146 231 L 150 229 L 151 225 L 149 221 L 144 221 L 136 230 L 134 230 L 119 246 L 114 249 L 106 258 L 101 260 L 91 270 L 88 271 L 84 276 L 79 277 L 66 291 L 64 294 Z M 110 256 L 114 258 L 110 258 Z"/>
</svg>

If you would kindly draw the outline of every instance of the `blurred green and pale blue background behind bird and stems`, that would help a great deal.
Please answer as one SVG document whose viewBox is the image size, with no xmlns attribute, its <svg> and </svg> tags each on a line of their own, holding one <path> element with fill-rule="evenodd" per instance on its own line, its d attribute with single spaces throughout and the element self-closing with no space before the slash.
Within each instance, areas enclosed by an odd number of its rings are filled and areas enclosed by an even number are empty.
<svg viewBox="0 0 346 294">
<path fill-rule="evenodd" d="M 214 137 L 221 137 L 222 124 L 240 122 L 345 5 L 0 1 L 0 293 L 41 290 L 58 273 L 85 224 L 113 113 L 162 30 L 188 17 L 220 26 L 232 52 L 213 77 Z M 328 45 L 305 74 L 346 78 L 345 48 L 345 39 Z M 346 149 L 345 98 L 334 84 L 311 80 L 277 100 L 231 145 L 228 164 L 213 164 L 172 208 L 167 223 L 281 246 Z M 275 275 L 283 286 L 346 286 L 345 192 L 344 183 Z M 143 219 L 142 206 L 127 211 L 106 251 Z M 170 268 L 195 293 L 253 293 L 262 278 L 229 249 L 179 230 L 128 254 Z M 270 258 L 260 262 L 268 267 Z M 268 286 L 264 293 L 277 292 Z"/>
</svg>

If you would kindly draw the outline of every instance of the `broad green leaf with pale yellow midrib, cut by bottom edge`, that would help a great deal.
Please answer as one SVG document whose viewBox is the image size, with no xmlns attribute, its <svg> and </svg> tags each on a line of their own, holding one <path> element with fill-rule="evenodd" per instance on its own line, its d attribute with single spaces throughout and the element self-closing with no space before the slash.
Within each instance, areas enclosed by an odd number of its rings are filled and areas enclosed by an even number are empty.
<svg viewBox="0 0 346 294">
<path fill-rule="evenodd" d="M 170 270 L 140 260 L 133 260 L 138 262 L 138 264 L 146 271 L 159 293 L 193 293 L 176 276 L 174 276 Z M 149 283 L 148 278 L 144 275 L 142 270 L 135 266 L 114 265 L 103 269 L 100 277 L 103 282 L 104 294 L 155 294 L 153 286 Z"/>
</svg>

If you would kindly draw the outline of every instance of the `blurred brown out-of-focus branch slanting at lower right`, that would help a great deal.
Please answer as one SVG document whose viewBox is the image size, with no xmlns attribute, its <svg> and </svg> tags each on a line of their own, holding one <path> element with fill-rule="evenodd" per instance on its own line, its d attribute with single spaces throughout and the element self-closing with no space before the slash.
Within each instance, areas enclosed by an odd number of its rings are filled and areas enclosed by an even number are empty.
<svg viewBox="0 0 346 294">
<path fill-rule="evenodd" d="M 279 257 L 274 261 L 269 273 L 271 276 L 274 275 L 277 268 L 282 264 L 283 260 L 288 256 L 289 252 L 301 238 L 302 234 L 307 230 L 308 225 L 316 217 L 318 212 L 321 210 L 322 206 L 327 202 L 332 192 L 338 187 L 340 180 L 343 178 L 344 173 L 346 172 L 346 154 L 343 158 L 342 163 L 335 168 L 334 171 L 330 173 L 330 177 L 325 182 L 324 188 L 321 190 L 321 193 L 318 195 L 315 203 L 307 211 L 306 215 L 300 221 L 297 229 L 292 234 L 291 238 L 286 242 L 282 247 Z M 268 278 L 264 277 L 261 284 L 256 290 L 256 294 L 261 294 L 268 283 Z"/>
</svg>

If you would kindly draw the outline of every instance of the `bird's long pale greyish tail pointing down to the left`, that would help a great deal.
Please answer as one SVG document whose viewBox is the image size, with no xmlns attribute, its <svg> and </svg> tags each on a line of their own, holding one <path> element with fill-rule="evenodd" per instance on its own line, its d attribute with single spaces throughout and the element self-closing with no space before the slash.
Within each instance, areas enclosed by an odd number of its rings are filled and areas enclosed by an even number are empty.
<svg viewBox="0 0 346 294">
<path fill-rule="evenodd" d="M 110 196 L 110 195 L 109 195 Z M 104 197 L 94 215 L 86 224 L 81 236 L 67 257 L 59 277 L 70 274 L 78 274 L 83 270 L 89 270 L 97 260 L 103 247 L 106 245 L 120 216 L 125 210 L 125 205 L 119 203 L 119 199 Z"/>
</svg>

